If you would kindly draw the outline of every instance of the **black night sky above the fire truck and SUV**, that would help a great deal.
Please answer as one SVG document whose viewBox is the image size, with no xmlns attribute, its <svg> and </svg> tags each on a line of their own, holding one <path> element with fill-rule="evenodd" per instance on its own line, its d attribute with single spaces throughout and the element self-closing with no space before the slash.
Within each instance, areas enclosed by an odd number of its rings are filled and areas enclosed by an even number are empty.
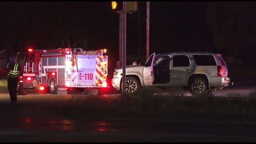
<svg viewBox="0 0 256 144">
<path fill-rule="evenodd" d="M 212 35 L 206 26 L 207 2 L 150 2 L 150 54 L 177 51 L 211 51 Z M 138 46 L 138 12 L 127 14 L 127 54 L 145 55 L 146 1 L 138 2 L 141 43 Z M 87 41 L 88 49 L 108 48 L 118 60 L 119 14 L 110 2 L 0 2 L 0 48 L 12 43 L 14 51 L 29 46 L 61 47 Z M 77 45 L 79 46 L 79 45 Z M 77 47 L 76 46 L 76 47 Z"/>
</svg>

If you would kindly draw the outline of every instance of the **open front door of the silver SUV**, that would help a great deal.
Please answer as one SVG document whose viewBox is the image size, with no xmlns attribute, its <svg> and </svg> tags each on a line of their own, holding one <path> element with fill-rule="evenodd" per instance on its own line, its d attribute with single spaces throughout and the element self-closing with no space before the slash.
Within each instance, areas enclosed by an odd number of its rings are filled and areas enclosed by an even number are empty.
<svg viewBox="0 0 256 144">
<path fill-rule="evenodd" d="M 151 54 L 145 66 L 143 67 L 143 82 L 145 86 L 152 86 L 154 82 L 154 64 L 155 53 Z"/>
</svg>

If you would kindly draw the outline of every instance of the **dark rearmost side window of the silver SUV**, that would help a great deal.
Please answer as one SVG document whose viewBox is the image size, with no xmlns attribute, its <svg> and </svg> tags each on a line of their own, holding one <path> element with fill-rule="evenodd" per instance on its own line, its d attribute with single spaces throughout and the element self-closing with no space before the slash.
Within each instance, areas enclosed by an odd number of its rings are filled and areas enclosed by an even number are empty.
<svg viewBox="0 0 256 144">
<path fill-rule="evenodd" d="M 197 65 L 217 65 L 213 55 L 193 55 Z"/>
</svg>

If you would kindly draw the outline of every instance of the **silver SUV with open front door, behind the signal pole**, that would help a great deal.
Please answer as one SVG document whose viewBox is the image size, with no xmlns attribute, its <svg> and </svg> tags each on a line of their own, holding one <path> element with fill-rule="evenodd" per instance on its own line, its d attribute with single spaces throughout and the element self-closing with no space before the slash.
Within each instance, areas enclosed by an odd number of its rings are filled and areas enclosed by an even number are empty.
<svg viewBox="0 0 256 144">
<path fill-rule="evenodd" d="M 122 67 L 114 70 L 112 86 L 123 88 Z M 208 52 L 177 52 L 151 54 L 144 66 L 126 67 L 126 93 L 134 94 L 140 87 L 186 86 L 193 95 L 221 89 L 229 85 L 227 65 L 221 54 Z"/>
</svg>

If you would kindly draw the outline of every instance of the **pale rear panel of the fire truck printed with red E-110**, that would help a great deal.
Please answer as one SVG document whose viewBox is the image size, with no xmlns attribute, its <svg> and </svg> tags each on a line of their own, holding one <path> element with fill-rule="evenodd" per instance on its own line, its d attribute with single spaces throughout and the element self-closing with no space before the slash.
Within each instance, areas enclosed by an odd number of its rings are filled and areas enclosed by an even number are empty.
<svg viewBox="0 0 256 144">
<path fill-rule="evenodd" d="M 78 86 L 95 86 L 95 57 L 78 57 Z"/>
</svg>

